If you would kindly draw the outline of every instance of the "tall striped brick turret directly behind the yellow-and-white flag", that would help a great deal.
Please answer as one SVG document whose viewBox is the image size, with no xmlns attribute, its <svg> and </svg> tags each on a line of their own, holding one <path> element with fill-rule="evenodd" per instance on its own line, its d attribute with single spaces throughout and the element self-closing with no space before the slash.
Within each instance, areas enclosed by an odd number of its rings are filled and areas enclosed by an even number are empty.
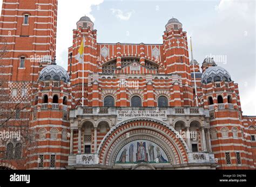
<svg viewBox="0 0 256 187">
<path fill-rule="evenodd" d="M 91 90 L 88 90 L 88 77 L 97 71 L 97 30 L 93 28 L 94 24 L 87 16 L 81 17 L 77 21 L 77 28 L 73 30 L 73 45 L 69 47 L 69 68 L 68 72 L 71 76 L 72 91 L 75 92 L 76 105 L 80 105 L 79 100 L 82 99 L 82 82 L 84 79 L 84 95 L 88 100 L 92 100 L 92 95 L 87 96 Z M 76 56 L 81 43 L 84 42 L 84 61 L 78 63 Z M 84 66 L 84 67 L 83 67 Z M 84 69 L 84 74 L 83 70 Z M 96 80 L 98 79 L 96 75 Z M 94 83 L 97 89 L 97 83 Z M 88 100 L 84 100 L 84 104 L 88 105 Z M 97 105 L 97 102 L 96 102 Z"/>
</svg>

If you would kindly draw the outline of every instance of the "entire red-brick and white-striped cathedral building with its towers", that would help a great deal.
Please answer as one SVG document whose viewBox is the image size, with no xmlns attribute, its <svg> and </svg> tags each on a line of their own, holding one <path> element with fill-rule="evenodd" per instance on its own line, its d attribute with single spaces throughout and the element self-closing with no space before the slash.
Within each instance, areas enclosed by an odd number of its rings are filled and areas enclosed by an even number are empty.
<svg viewBox="0 0 256 187">
<path fill-rule="evenodd" d="M 10 106 L 27 101 L 7 128 L 27 121 L 35 143 L 27 149 L 6 141 L 0 167 L 256 168 L 256 117 L 242 114 L 238 84 L 226 69 L 211 57 L 190 60 L 178 19 L 160 28 L 161 44 L 103 44 L 102 32 L 81 17 L 65 70 L 55 63 L 57 0 L 36 2 L 3 0 L 8 57 L 0 75 Z M 76 58 L 81 46 L 83 63 Z"/>
</svg>

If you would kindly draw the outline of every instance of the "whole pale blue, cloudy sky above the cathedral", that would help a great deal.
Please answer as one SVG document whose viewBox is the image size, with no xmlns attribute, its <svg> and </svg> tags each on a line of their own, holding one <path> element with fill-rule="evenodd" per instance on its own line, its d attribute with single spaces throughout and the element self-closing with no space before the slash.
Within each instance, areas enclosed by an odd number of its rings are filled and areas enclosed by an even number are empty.
<svg viewBox="0 0 256 187">
<path fill-rule="evenodd" d="M 162 44 L 165 25 L 174 17 L 193 38 L 194 59 L 201 64 L 214 57 L 239 84 L 243 114 L 256 116 L 255 9 L 254 0 L 59 0 L 57 64 L 67 69 L 72 30 L 84 15 L 95 23 L 97 42 L 136 44 Z"/>
</svg>

